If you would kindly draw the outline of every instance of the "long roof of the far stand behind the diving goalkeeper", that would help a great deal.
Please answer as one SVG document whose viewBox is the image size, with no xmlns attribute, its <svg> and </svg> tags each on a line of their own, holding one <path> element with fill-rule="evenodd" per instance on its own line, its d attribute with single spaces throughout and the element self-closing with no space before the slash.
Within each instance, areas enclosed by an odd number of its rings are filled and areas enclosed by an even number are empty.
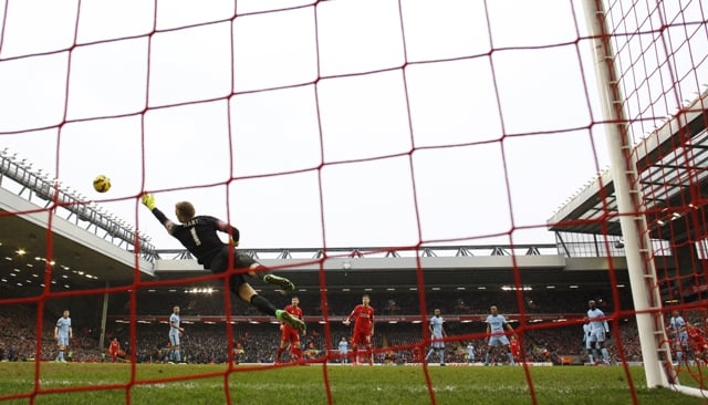
<svg viewBox="0 0 708 405">
<path fill-rule="evenodd" d="M 552 247 L 555 252 L 553 245 L 541 247 Z M 280 250 L 278 258 L 267 258 L 275 250 L 243 252 L 257 255 L 259 261 L 278 269 L 279 274 L 291 279 L 301 291 L 311 292 L 321 288 L 334 291 L 409 291 L 417 289 L 419 282 L 426 289 L 441 291 L 500 291 L 517 285 L 514 268 L 519 269 L 522 288 L 607 288 L 611 263 L 606 258 L 566 258 L 556 252 L 538 255 L 537 248 L 333 249 L 327 251 L 326 259 L 315 249 Z M 620 270 L 617 283 L 628 285 L 624 258 L 616 258 L 612 266 Z M 156 263 L 155 274 L 160 280 L 204 276 L 204 271 L 197 269 L 192 260 L 160 260 Z"/>
</svg>

